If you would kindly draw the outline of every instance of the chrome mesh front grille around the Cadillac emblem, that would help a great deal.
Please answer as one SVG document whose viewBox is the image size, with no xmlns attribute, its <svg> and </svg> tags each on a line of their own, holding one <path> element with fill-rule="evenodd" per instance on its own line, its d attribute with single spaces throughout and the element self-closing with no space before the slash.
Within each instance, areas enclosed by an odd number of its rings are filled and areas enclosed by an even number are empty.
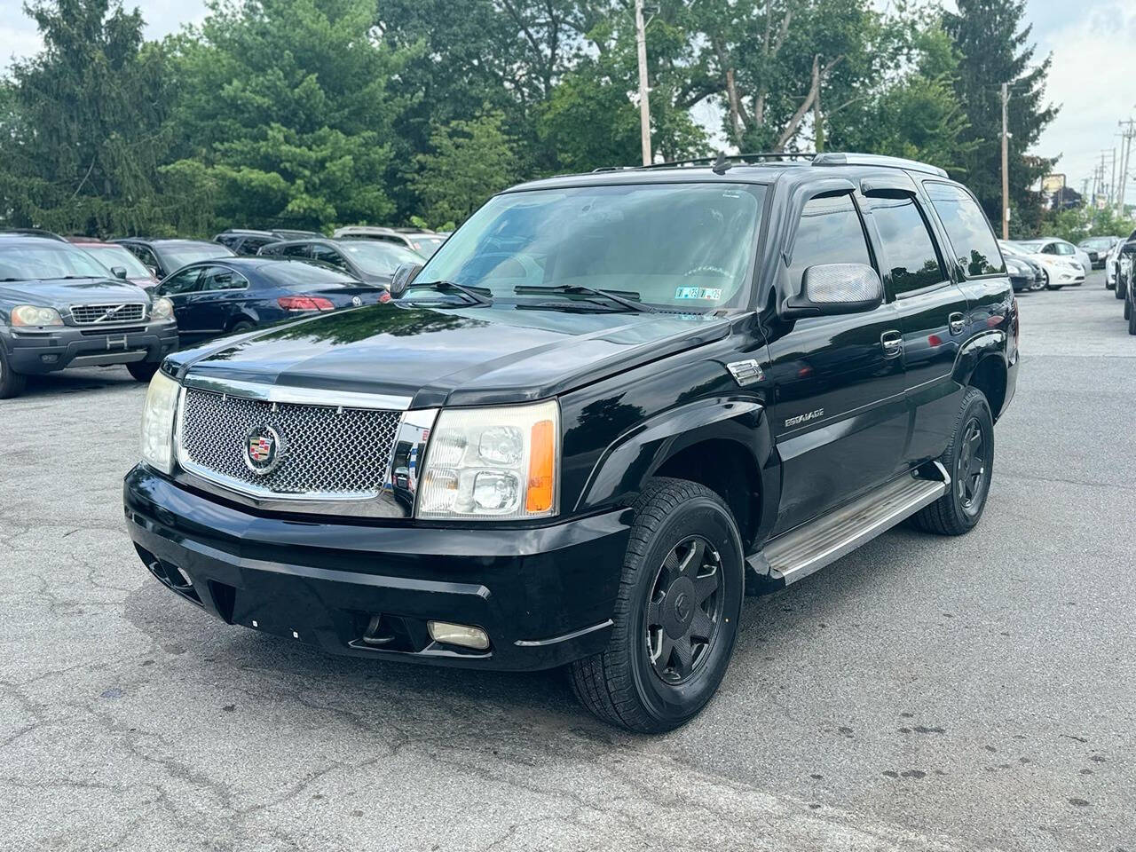
<svg viewBox="0 0 1136 852">
<path fill-rule="evenodd" d="M 267 402 L 186 387 L 179 460 L 190 473 L 252 495 L 311 500 L 365 499 L 379 493 L 401 411 Z M 250 435 L 272 429 L 281 460 L 254 473 Z"/>
</svg>

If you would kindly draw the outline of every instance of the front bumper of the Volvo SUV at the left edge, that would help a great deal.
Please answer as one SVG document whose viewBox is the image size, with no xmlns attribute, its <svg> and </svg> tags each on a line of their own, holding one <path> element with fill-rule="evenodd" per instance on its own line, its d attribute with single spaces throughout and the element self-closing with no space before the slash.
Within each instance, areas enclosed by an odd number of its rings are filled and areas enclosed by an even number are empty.
<svg viewBox="0 0 1136 852">
<path fill-rule="evenodd" d="M 55 373 L 68 367 L 133 361 L 153 364 L 177 349 L 177 324 L 162 320 L 118 328 L 69 325 L 42 331 L 7 328 L 0 341 L 16 373 Z"/>
</svg>

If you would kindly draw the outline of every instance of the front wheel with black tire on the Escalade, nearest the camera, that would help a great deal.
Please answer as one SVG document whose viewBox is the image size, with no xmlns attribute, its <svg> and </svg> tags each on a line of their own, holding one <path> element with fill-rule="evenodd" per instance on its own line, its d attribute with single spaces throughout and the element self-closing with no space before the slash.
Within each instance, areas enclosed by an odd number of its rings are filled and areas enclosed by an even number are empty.
<svg viewBox="0 0 1136 852">
<path fill-rule="evenodd" d="M 607 650 L 573 662 L 569 674 L 576 696 L 598 718 L 629 730 L 659 734 L 692 719 L 726 674 L 742 610 L 742 540 L 721 498 L 686 479 L 652 479 L 633 510 L 635 524 L 624 559 L 611 640 Z M 704 556 L 700 556 L 700 565 L 688 569 L 685 566 L 694 551 L 685 551 L 684 557 L 680 549 L 695 541 L 702 543 L 700 553 Z M 703 574 L 708 568 L 713 570 Z M 715 575 L 715 590 L 699 600 L 695 595 L 703 593 L 709 585 L 705 580 Z M 703 584 L 695 585 L 695 578 Z M 667 587 L 660 593 L 663 585 Z M 693 608 L 687 593 L 695 600 Z M 651 618 L 661 620 L 652 625 Z M 712 633 L 702 636 L 699 629 Z M 688 661 L 680 659 L 684 643 L 691 653 Z M 654 653 L 653 648 L 658 649 Z M 671 660 L 676 661 L 674 667 Z M 688 667 L 685 675 L 684 667 Z"/>
</svg>

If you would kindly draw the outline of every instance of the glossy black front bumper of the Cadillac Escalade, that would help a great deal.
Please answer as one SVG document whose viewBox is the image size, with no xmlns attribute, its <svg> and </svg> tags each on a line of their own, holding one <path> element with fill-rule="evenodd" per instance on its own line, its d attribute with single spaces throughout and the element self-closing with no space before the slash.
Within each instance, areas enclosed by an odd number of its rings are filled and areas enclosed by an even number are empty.
<svg viewBox="0 0 1136 852">
<path fill-rule="evenodd" d="M 142 465 L 124 502 L 151 573 L 228 624 L 334 653 L 504 670 L 607 646 L 630 520 L 626 510 L 511 529 L 287 520 Z M 481 627 L 490 649 L 433 642 L 427 620 Z"/>
</svg>

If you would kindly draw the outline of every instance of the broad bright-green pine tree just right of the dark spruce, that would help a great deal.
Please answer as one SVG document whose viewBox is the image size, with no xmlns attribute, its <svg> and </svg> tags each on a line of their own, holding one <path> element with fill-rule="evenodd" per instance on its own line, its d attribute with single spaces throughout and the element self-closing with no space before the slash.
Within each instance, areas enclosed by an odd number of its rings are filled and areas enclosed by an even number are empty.
<svg viewBox="0 0 1136 852">
<path fill-rule="evenodd" d="M 219 0 L 172 40 L 186 148 L 166 172 L 218 225 L 383 222 L 399 57 L 375 0 Z"/>
</svg>

